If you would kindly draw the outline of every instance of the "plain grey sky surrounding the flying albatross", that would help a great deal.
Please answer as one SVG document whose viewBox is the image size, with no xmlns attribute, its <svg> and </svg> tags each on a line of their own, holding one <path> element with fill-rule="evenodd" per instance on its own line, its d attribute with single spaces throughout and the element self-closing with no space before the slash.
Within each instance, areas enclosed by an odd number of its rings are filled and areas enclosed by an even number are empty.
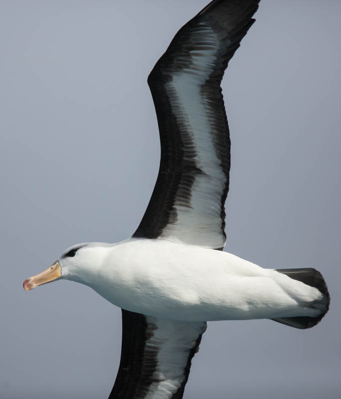
<svg viewBox="0 0 341 399">
<path fill-rule="evenodd" d="M 108 397 L 120 309 L 73 282 L 21 284 L 72 244 L 134 232 L 160 156 L 147 76 L 207 2 L 0 1 L 1 398 Z M 262 0 L 223 81 L 226 250 L 319 269 L 331 310 L 306 331 L 209 323 L 186 399 L 340 398 L 340 15 Z"/>
</svg>

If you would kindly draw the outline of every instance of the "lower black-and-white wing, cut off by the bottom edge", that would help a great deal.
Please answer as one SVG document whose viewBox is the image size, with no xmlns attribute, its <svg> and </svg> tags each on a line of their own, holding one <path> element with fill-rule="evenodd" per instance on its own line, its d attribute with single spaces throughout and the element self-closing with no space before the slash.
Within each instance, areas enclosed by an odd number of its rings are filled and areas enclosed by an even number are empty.
<svg viewBox="0 0 341 399">
<path fill-rule="evenodd" d="M 180 399 L 205 322 L 122 310 L 121 362 L 109 399 Z"/>
</svg>

